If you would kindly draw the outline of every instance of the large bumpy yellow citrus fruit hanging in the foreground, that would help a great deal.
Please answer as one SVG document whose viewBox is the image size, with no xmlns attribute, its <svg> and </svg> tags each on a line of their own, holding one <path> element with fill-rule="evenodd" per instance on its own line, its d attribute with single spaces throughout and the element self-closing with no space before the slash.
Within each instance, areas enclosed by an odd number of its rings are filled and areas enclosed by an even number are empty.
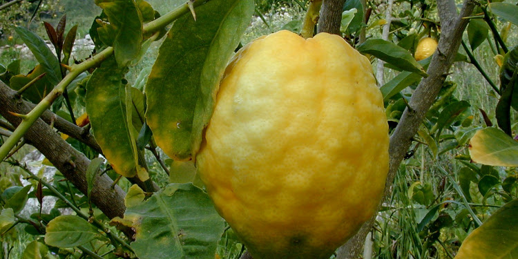
<svg viewBox="0 0 518 259">
<path fill-rule="evenodd" d="M 284 30 L 227 67 L 198 171 L 254 259 L 329 258 L 376 210 L 387 131 L 366 57 Z"/>
</svg>

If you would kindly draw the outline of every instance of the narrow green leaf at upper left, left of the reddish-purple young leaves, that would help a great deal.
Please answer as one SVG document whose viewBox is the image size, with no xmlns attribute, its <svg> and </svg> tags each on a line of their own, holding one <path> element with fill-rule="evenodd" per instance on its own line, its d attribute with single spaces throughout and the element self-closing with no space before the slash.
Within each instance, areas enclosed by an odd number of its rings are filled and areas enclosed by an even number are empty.
<svg viewBox="0 0 518 259">
<path fill-rule="evenodd" d="M 45 77 L 48 78 L 53 88 L 61 81 L 61 66 L 59 61 L 57 61 L 57 57 L 52 54 L 45 41 L 34 32 L 20 26 L 15 27 L 15 31 L 43 67 L 45 73 L 47 73 Z"/>
</svg>

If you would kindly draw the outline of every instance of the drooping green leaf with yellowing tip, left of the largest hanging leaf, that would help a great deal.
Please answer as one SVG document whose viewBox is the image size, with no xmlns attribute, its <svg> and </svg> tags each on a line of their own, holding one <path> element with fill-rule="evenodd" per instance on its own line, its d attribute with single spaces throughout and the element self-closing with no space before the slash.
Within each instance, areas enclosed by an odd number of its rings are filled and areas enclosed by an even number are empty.
<svg viewBox="0 0 518 259">
<path fill-rule="evenodd" d="M 86 113 L 93 135 L 115 172 L 125 177 L 137 174 L 130 132 L 126 119 L 127 68 L 120 68 L 113 57 L 97 68 L 86 85 Z"/>
</svg>

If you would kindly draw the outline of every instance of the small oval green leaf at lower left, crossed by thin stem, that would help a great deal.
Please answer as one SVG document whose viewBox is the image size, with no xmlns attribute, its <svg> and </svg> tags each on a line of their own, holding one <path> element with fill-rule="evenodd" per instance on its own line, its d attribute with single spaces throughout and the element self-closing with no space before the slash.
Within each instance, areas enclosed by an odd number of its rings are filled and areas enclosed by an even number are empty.
<svg viewBox="0 0 518 259">
<path fill-rule="evenodd" d="M 47 224 L 45 243 L 52 247 L 77 247 L 103 238 L 97 228 L 77 215 L 60 215 Z"/>
</svg>

